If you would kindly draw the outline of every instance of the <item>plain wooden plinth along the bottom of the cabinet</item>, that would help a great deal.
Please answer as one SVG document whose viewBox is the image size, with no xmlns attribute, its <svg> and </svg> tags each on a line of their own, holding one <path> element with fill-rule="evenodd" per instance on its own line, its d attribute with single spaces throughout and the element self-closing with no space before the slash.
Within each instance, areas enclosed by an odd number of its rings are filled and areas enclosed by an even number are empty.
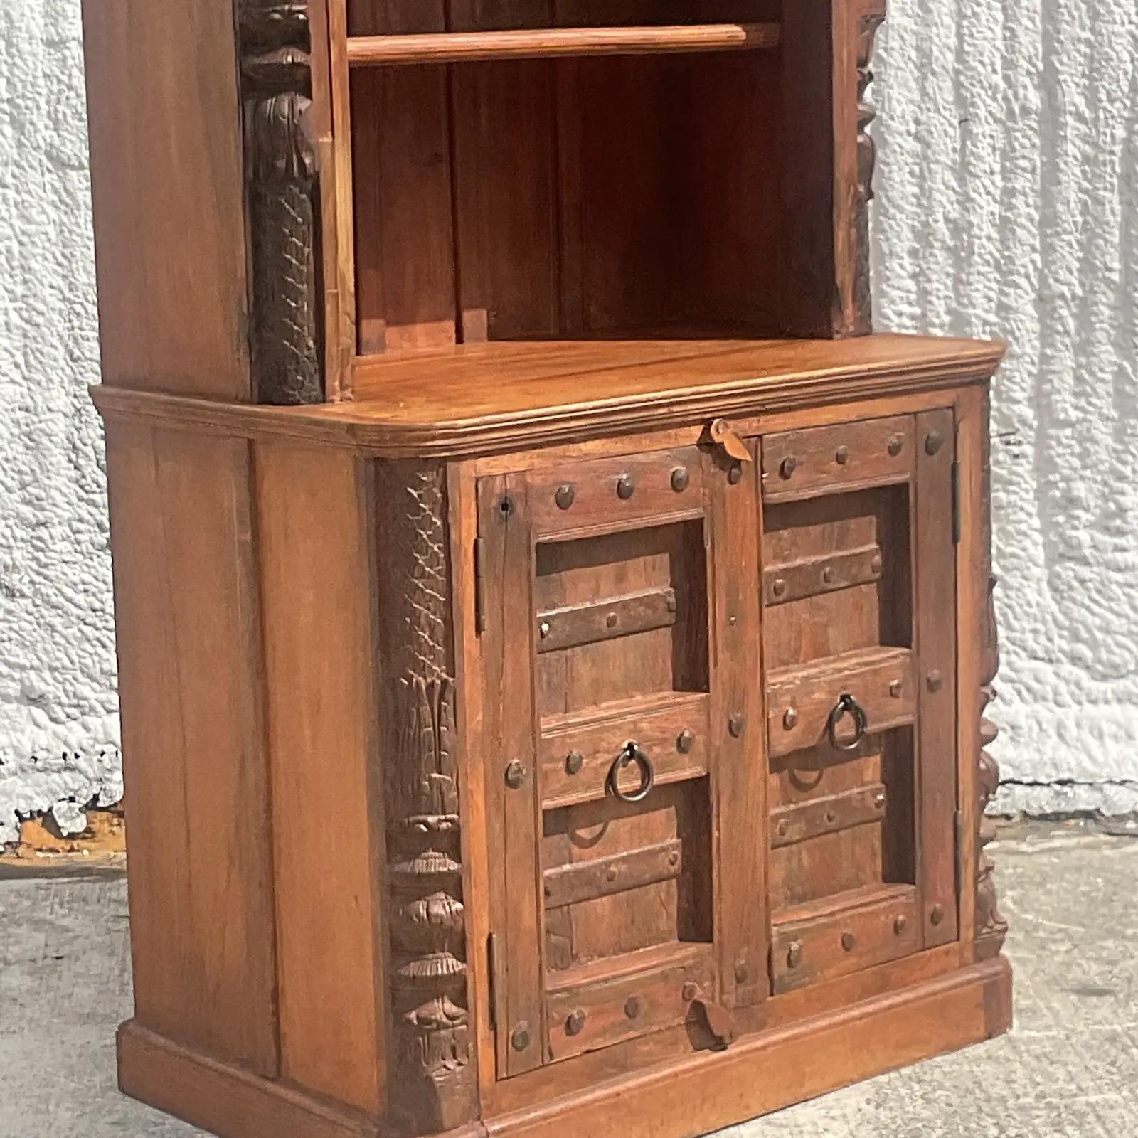
<svg viewBox="0 0 1138 1138">
<path fill-rule="evenodd" d="M 694 1138 L 861 1079 L 998 1036 L 1012 1023 L 1005 957 L 889 992 L 724 1052 L 551 1099 L 447 1132 L 554 1138 Z M 386 1138 L 374 1121 L 196 1055 L 134 1021 L 118 1032 L 118 1078 L 134 1098 L 221 1138 Z"/>
</svg>

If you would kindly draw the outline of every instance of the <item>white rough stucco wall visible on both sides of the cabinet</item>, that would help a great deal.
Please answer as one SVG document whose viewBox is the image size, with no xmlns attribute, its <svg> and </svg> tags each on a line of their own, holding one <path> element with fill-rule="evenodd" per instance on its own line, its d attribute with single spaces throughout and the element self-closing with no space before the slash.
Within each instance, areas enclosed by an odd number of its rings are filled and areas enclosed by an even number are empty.
<svg viewBox="0 0 1138 1138">
<path fill-rule="evenodd" d="M 879 327 L 1013 345 L 1009 809 L 1138 809 L 1136 60 L 1132 0 L 892 0 L 879 40 Z M 2 0 L 0 841 L 121 792 L 97 378 L 79 0 Z"/>
</svg>

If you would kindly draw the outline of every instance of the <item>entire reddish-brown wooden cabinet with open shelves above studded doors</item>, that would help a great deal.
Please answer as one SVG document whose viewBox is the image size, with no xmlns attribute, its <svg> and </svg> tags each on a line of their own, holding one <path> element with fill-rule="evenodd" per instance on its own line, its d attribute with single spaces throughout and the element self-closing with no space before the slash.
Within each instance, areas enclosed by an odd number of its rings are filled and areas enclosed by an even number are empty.
<svg viewBox="0 0 1138 1138">
<path fill-rule="evenodd" d="M 872 333 L 880 0 L 84 15 L 124 1090 L 678 1138 L 1005 1030 L 1003 347 Z"/>
</svg>

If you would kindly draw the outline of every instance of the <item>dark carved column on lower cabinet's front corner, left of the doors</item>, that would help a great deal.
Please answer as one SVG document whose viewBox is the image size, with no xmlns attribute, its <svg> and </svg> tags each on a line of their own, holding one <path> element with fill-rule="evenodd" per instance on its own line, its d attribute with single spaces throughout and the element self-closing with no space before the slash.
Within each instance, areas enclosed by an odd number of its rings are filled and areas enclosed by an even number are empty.
<svg viewBox="0 0 1138 1138">
<path fill-rule="evenodd" d="M 476 1112 L 445 478 L 409 461 L 380 463 L 376 480 L 388 1080 L 396 1121 L 415 1133 Z"/>
</svg>

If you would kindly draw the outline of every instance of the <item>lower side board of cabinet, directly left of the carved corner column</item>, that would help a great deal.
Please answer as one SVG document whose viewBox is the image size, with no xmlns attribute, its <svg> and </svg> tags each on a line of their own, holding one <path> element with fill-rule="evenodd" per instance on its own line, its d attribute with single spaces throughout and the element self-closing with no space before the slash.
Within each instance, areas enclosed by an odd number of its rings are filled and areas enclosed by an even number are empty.
<svg viewBox="0 0 1138 1138">
<path fill-rule="evenodd" d="M 382 827 L 362 477 L 348 452 L 257 446 L 281 1075 L 374 1114 Z"/>
</svg>

